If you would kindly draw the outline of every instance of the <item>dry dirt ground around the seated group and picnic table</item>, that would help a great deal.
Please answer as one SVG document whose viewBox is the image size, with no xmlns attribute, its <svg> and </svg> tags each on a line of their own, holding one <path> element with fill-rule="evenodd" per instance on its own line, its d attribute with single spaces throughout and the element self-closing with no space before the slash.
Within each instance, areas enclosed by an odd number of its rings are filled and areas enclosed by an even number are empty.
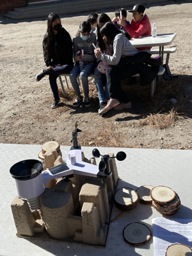
<svg viewBox="0 0 192 256">
<path fill-rule="evenodd" d="M 97 91 L 92 81 L 93 104 L 88 109 L 71 107 L 74 93 L 70 82 L 68 98 L 61 98 L 59 107 L 51 109 L 53 99 L 48 77 L 35 82 L 35 75 L 45 67 L 42 39 L 47 17 L 14 21 L 0 16 L 0 142 L 43 144 L 56 140 L 60 145 L 71 145 L 71 133 L 77 121 L 82 130 L 78 136 L 80 145 L 192 149 L 190 2 L 146 6 L 151 23 L 157 24 L 157 33 L 177 33 L 171 45 L 177 46 L 177 52 L 170 56 L 170 70 L 178 77 L 163 80 L 153 100 L 148 96 L 150 87 L 141 89 L 138 83 L 127 86 L 132 109 L 111 110 L 104 116 L 97 113 Z M 115 8 L 101 12 L 112 18 Z M 71 37 L 88 14 L 60 15 Z M 131 21 L 131 14 L 127 19 Z M 170 103 L 170 98 L 176 98 L 177 104 Z"/>
</svg>

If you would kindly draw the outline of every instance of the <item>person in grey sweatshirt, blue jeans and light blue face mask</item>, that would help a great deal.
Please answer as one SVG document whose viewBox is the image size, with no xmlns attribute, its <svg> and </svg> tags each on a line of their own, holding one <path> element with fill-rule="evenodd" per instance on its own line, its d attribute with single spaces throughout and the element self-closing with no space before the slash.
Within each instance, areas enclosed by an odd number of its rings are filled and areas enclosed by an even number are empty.
<svg viewBox="0 0 192 256">
<path fill-rule="evenodd" d="M 91 32 L 92 28 L 88 21 L 83 21 L 79 26 L 79 31 L 73 39 L 74 44 L 74 59 L 76 65 L 70 72 L 70 82 L 76 93 L 76 100 L 74 101 L 73 107 L 79 107 L 83 102 L 83 97 L 79 90 L 79 84 L 77 77 L 80 74 L 83 91 L 84 91 L 84 105 L 90 107 L 92 102 L 89 98 L 89 85 L 88 76 L 92 73 L 93 64 L 95 63 L 95 54 L 92 44 L 95 44 L 96 37 L 95 33 Z"/>
</svg>

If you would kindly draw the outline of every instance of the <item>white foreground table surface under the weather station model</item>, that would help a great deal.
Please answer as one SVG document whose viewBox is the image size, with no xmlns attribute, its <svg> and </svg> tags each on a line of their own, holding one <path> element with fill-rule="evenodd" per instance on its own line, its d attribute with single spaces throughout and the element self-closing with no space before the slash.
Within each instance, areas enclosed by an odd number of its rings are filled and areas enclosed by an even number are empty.
<svg viewBox="0 0 192 256">
<path fill-rule="evenodd" d="M 94 147 L 83 147 L 86 158 L 92 157 Z M 70 147 L 61 146 L 64 158 Z M 100 154 L 124 150 L 126 160 L 116 161 L 120 181 L 118 188 L 131 187 L 134 190 L 141 185 L 164 185 L 179 194 L 181 206 L 177 214 L 170 216 L 191 218 L 192 216 L 192 151 L 166 149 L 120 149 L 98 148 Z M 10 167 L 17 161 L 38 159 L 41 145 L 12 145 L 0 143 L 1 167 L 1 208 L 0 208 L 0 255 L 1 256 L 152 256 L 152 240 L 147 244 L 134 247 L 127 244 L 122 231 L 132 222 L 145 223 L 152 230 L 152 219 L 162 217 L 152 206 L 139 204 L 134 210 L 125 212 L 109 226 L 106 247 L 89 246 L 76 242 L 58 242 L 38 239 L 23 239 L 16 236 L 17 230 L 13 221 L 11 203 L 16 196 L 15 182 L 10 175 Z M 99 159 L 100 161 L 100 159 Z M 98 163 L 98 161 L 97 161 Z M 120 214 L 113 206 L 111 219 Z"/>
</svg>

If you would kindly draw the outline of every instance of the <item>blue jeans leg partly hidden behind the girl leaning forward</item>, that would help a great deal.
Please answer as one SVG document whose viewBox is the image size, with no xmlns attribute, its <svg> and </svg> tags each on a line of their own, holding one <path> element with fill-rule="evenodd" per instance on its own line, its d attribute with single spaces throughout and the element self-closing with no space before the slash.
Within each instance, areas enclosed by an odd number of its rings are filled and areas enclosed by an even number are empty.
<svg viewBox="0 0 192 256">
<path fill-rule="evenodd" d="M 95 86 L 97 88 L 99 103 L 106 102 L 109 98 L 108 84 L 106 84 L 106 88 L 104 90 L 104 87 L 102 84 L 103 77 L 104 77 L 104 74 L 100 73 L 99 70 L 95 68 L 94 78 L 95 78 Z"/>
</svg>

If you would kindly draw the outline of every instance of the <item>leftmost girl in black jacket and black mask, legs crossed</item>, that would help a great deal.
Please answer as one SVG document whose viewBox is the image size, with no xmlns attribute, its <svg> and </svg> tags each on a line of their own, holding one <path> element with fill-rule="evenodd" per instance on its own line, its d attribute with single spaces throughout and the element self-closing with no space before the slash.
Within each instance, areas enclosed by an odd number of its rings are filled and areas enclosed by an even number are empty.
<svg viewBox="0 0 192 256">
<path fill-rule="evenodd" d="M 49 83 L 54 96 L 51 107 L 55 109 L 60 102 L 56 78 L 61 74 L 69 74 L 74 66 L 72 40 L 67 30 L 62 27 L 58 14 L 51 13 L 47 18 L 47 33 L 44 35 L 43 50 L 47 69 L 42 69 L 36 75 L 36 81 L 49 75 Z"/>
</svg>

